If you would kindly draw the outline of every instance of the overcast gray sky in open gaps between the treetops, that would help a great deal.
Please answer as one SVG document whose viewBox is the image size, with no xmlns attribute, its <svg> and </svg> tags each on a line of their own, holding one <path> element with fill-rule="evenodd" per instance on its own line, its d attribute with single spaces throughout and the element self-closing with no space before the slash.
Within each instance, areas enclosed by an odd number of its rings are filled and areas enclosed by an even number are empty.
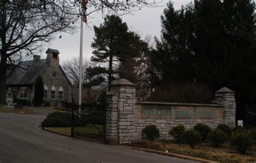
<svg viewBox="0 0 256 163">
<path fill-rule="evenodd" d="M 169 0 L 163 0 L 162 5 L 166 5 Z M 172 0 L 174 4 L 174 8 L 179 9 L 181 5 L 186 5 L 191 2 L 191 0 Z M 158 7 L 158 8 L 143 8 L 137 12 L 134 12 L 133 15 L 125 15 L 121 18 L 123 22 L 126 22 L 129 26 L 129 29 L 132 31 L 137 31 L 142 38 L 147 35 L 152 37 L 160 37 L 161 23 L 160 23 L 160 15 L 163 14 L 163 11 L 166 6 Z M 92 56 L 92 48 L 91 42 L 93 40 L 94 31 L 92 30 L 93 25 L 99 26 L 100 23 L 103 23 L 104 20 L 102 18 L 101 13 L 94 13 L 92 15 L 94 18 L 90 18 L 88 20 L 90 29 L 85 29 L 84 27 L 84 42 L 83 42 L 83 58 L 90 59 Z M 59 39 L 59 36 L 62 36 Z M 58 49 L 60 52 L 59 59 L 60 64 L 64 61 L 71 59 L 73 56 L 79 56 L 79 41 L 80 41 L 80 30 L 78 29 L 75 34 L 66 34 L 59 33 L 56 38 L 48 44 L 46 48 L 54 48 Z M 45 50 L 46 50 L 45 48 Z M 45 54 L 43 54 L 42 58 L 45 58 Z"/>
</svg>

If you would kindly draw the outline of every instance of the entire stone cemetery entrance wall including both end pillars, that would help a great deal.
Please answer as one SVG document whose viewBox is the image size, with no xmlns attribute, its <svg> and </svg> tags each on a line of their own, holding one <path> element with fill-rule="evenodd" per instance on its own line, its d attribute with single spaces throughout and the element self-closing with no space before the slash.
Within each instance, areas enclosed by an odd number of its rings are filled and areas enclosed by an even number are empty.
<svg viewBox="0 0 256 163">
<path fill-rule="evenodd" d="M 134 84 L 120 79 L 112 84 L 107 94 L 107 141 L 119 144 L 142 138 L 142 129 L 154 124 L 160 130 L 160 139 L 171 139 L 168 131 L 179 124 L 191 129 L 197 123 L 212 128 L 225 123 L 235 126 L 234 91 L 222 88 L 215 93 L 214 104 L 185 104 L 136 102 Z"/>
</svg>

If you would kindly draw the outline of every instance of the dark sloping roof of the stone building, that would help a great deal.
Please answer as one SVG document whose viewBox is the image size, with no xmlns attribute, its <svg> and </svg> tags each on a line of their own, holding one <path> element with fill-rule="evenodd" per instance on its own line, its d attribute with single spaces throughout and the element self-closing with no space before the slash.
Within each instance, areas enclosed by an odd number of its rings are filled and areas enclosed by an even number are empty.
<svg viewBox="0 0 256 163">
<path fill-rule="evenodd" d="M 7 75 L 6 86 L 10 85 L 30 85 L 36 82 L 39 74 L 48 66 L 46 59 L 38 61 L 23 61 L 18 64 L 19 67 L 28 68 L 28 70 L 15 68 Z"/>
</svg>

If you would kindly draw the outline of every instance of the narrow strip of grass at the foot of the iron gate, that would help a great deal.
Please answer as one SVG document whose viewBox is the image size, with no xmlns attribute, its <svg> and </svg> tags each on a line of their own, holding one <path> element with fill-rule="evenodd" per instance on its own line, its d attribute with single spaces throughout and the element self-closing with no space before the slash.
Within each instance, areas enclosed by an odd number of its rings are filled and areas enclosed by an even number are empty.
<svg viewBox="0 0 256 163">
<path fill-rule="evenodd" d="M 71 127 L 47 127 L 47 129 L 55 131 L 55 132 L 60 132 L 60 133 L 65 133 L 65 134 L 71 134 Z M 102 125 L 88 125 L 88 126 L 83 126 L 83 127 L 75 127 L 74 132 L 76 131 L 83 131 L 84 133 L 92 133 L 92 134 L 99 134 L 100 131 L 103 130 Z"/>
</svg>

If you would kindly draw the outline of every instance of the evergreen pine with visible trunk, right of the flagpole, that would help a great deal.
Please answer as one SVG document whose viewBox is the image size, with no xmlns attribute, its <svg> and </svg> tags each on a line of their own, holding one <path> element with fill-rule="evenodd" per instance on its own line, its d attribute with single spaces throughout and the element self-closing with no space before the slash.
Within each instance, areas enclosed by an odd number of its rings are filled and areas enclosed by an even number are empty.
<svg viewBox="0 0 256 163">
<path fill-rule="evenodd" d="M 147 51 L 147 44 L 138 34 L 128 31 L 126 23 L 118 16 L 106 16 L 104 23 L 94 26 L 94 30 L 91 60 L 103 66 L 88 68 L 87 76 L 95 85 L 106 79 L 110 90 L 111 82 L 116 78 L 133 76 L 127 75 L 133 73 L 134 66 L 129 63 L 134 63 L 138 55 Z"/>
</svg>

